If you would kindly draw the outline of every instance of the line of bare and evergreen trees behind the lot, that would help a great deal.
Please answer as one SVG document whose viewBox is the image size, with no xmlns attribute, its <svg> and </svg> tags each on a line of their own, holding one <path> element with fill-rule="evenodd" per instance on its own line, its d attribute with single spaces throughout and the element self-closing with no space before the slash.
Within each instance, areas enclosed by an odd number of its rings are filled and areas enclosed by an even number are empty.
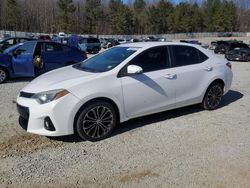
<svg viewBox="0 0 250 188">
<path fill-rule="evenodd" d="M 246 4 L 244 4 L 246 3 Z M 248 0 L 1 0 L 0 29 L 81 34 L 250 31 Z"/>
</svg>

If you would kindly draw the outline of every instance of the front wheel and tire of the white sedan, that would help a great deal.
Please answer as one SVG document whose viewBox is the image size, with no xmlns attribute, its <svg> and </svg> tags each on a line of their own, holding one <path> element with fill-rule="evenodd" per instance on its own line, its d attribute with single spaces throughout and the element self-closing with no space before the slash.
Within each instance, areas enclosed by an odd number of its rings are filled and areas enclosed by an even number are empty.
<svg viewBox="0 0 250 188">
<path fill-rule="evenodd" d="M 116 120 L 117 115 L 111 104 L 93 102 L 83 108 L 77 117 L 76 131 L 83 140 L 96 142 L 110 135 Z"/>
</svg>

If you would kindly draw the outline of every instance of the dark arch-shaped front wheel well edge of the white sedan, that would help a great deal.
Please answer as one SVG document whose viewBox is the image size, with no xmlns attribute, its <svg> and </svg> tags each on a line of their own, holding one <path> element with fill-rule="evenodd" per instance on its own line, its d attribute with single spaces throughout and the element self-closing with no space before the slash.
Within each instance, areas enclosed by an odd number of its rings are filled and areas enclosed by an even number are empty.
<svg viewBox="0 0 250 188">
<path fill-rule="evenodd" d="M 74 122 L 73 122 L 73 126 L 74 126 L 74 133 L 76 133 L 76 122 L 77 122 L 77 119 L 79 117 L 79 115 L 81 114 L 81 111 L 88 105 L 94 103 L 94 102 L 98 102 L 98 101 L 101 101 L 101 102 L 107 102 L 109 104 L 111 104 L 116 112 L 116 115 L 117 115 L 117 123 L 120 123 L 120 110 L 119 110 L 119 107 L 118 105 L 110 98 L 107 98 L 107 97 L 97 97 L 97 98 L 93 98 L 93 99 L 90 99 L 89 101 L 85 102 L 77 111 L 75 117 L 74 117 Z"/>
</svg>

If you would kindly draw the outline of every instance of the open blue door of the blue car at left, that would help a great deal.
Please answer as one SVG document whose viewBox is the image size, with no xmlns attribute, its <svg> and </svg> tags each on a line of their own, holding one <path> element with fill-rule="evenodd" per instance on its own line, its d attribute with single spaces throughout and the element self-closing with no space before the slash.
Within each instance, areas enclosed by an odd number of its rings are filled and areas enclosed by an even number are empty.
<svg viewBox="0 0 250 188">
<path fill-rule="evenodd" d="M 12 67 L 15 76 L 34 76 L 33 55 L 36 44 L 36 42 L 26 42 L 15 50 L 17 55 L 12 56 Z"/>
</svg>

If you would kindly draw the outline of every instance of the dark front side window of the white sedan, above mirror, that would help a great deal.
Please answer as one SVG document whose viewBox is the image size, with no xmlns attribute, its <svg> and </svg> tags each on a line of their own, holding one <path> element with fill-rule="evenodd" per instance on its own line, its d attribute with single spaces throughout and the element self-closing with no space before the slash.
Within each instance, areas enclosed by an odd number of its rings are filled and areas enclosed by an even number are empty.
<svg viewBox="0 0 250 188">
<path fill-rule="evenodd" d="M 156 71 L 169 67 L 167 47 L 155 47 L 142 52 L 129 63 L 137 65 L 143 72 Z"/>
</svg>

